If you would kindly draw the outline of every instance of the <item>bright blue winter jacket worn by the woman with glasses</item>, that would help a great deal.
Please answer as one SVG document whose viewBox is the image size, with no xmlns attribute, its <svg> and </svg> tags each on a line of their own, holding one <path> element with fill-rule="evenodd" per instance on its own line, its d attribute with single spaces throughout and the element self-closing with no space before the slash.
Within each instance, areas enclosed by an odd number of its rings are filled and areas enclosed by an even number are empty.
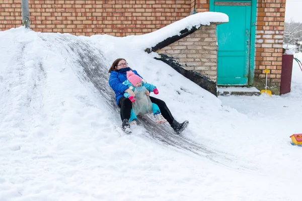
<svg viewBox="0 0 302 201">
<path fill-rule="evenodd" d="M 127 71 L 131 71 L 130 68 L 123 68 L 118 71 L 111 71 L 109 77 L 109 85 L 115 92 L 116 104 L 118 105 L 119 99 L 124 95 L 124 91 L 129 87 L 123 85 L 123 82 L 127 80 Z M 133 71 L 133 70 L 132 70 Z M 136 71 L 133 71 L 135 75 L 138 75 Z M 140 75 L 138 75 L 141 77 Z"/>
</svg>

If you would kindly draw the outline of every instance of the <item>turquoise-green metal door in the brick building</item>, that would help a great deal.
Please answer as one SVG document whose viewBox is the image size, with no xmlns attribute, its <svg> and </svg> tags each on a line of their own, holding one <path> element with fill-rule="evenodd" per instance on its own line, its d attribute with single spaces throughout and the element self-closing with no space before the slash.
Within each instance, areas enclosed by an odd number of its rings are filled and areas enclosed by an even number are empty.
<svg viewBox="0 0 302 201">
<path fill-rule="evenodd" d="M 215 2 L 214 11 L 229 16 L 217 26 L 217 85 L 248 85 L 251 3 Z"/>
</svg>

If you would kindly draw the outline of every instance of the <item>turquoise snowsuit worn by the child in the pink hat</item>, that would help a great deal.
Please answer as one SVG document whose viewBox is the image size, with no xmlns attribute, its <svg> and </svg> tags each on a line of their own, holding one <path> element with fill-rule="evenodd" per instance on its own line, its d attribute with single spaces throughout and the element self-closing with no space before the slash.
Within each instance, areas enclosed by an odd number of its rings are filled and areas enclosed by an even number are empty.
<svg viewBox="0 0 302 201">
<path fill-rule="evenodd" d="M 153 92 L 154 89 L 156 89 L 156 86 L 154 86 L 152 84 L 148 84 L 144 80 L 141 80 L 141 87 L 134 87 L 129 82 L 129 80 L 126 80 L 125 82 L 123 82 L 123 84 L 126 85 L 127 87 L 129 87 L 129 89 L 131 89 L 134 93 L 135 92 L 136 93 L 140 92 L 140 93 L 144 93 L 145 94 L 146 90 L 148 90 L 149 92 Z M 124 97 L 125 98 L 129 98 L 130 94 L 128 94 L 127 92 L 125 92 L 124 93 Z M 138 98 L 138 97 L 135 96 L 135 98 Z M 150 99 L 148 99 L 148 100 L 149 100 L 150 104 L 149 105 L 145 105 L 145 108 L 140 107 L 139 109 L 136 109 L 136 110 L 134 109 L 134 111 L 133 111 L 133 109 L 131 109 L 131 114 L 130 114 L 129 122 L 131 122 L 133 120 L 136 120 L 137 119 L 136 115 L 139 115 L 139 114 L 146 114 L 146 113 L 158 114 L 158 113 L 161 113 L 161 110 L 160 110 L 159 106 L 157 104 L 155 104 L 155 103 L 152 103 L 150 101 Z M 151 107 L 151 105 L 152 105 L 152 107 Z"/>
</svg>

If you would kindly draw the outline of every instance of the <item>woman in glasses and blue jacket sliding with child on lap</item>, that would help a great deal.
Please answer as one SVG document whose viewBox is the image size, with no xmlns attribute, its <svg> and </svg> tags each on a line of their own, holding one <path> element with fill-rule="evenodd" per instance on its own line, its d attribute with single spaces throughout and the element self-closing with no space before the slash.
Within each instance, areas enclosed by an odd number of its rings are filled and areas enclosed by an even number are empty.
<svg viewBox="0 0 302 201">
<path fill-rule="evenodd" d="M 109 85 L 115 92 L 116 104 L 121 108 L 120 115 L 122 119 L 122 129 L 126 133 L 130 133 L 130 124 L 129 118 L 131 114 L 132 102 L 124 97 L 124 93 L 130 94 L 130 96 L 135 97 L 134 92 L 129 89 L 126 85 L 123 85 L 123 82 L 127 80 L 127 71 L 131 71 L 128 67 L 128 63 L 123 58 L 118 58 L 113 61 L 109 73 Z M 133 70 L 132 70 L 133 71 Z M 136 71 L 133 71 L 135 75 L 138 75 Z M 170 123 L 174 131 L 179 135 L 188 125 L 189 121 L 184 121 L 182 123 L 177 122 L 172 116 L 169 108 L 166 103 L 160 99 L 150 96 L 151 102 L 157 104 L 162 112 L 162 115 Z"/>
</svg>

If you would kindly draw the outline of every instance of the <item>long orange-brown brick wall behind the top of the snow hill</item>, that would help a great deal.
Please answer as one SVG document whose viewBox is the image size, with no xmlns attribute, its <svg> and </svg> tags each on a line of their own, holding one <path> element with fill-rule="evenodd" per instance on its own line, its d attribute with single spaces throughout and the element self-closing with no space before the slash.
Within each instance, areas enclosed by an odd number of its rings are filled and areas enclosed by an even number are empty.
<svg viewBox="0 0 302 201">
<path fill-rule="evenodd" d="M 29 0 L 31 29 L 74 35 L 140 35 L 190 15 L 192 0 Z M 0 31 L 22 24 L 21 0 L 0 0 Z"/>
</svg>

